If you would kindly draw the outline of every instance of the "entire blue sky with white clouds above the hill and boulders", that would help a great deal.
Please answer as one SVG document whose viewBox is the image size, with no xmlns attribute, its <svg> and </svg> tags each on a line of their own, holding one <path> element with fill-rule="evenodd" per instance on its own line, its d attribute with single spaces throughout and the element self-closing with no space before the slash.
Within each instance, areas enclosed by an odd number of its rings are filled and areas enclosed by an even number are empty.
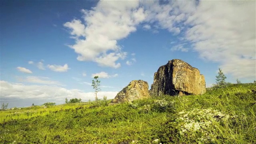
<svg viewBox="0 0 256 144">
<path fill-rule="evenodd" d="M 236 83 L 256 74 L 255 1 L 0 1 L 0 102 L 114 98 L 132 80 L 153 83 L 172 59 L 218 68 Z"/>
</svg>

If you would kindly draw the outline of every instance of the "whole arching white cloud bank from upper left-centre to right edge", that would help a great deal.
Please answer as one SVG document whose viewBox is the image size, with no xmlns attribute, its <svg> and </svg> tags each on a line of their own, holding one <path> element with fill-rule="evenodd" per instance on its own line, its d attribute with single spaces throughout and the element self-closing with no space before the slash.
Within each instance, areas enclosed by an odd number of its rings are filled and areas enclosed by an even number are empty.
<svg viewBox="0 0 256 144">
<path fill-rule="evenodd" d="M 186 52 L 188 48 L 180 44 L 188 42 L 190 49 L 198 52 L 200 58 L 218 62 L 225 73 L 251 79 L 255 78 L 256 69 L 255 3 L 100 1 L 92 10 L 82 10 L 85 23 L 73 20 L 64 26 L 70 28 L 70 34 L 76 37 L 76 43 L 70 47 L 80 61 L 89 60 L 99 66 L 119 68 L 118 60 L 126 54 L 117 41 L 135 32 L 136 26 L 143 22 L 144 26 L 152 25 L 154 33 L 162 28 L 179 34 L 181 42 L 172 50 Z"/>
</svg>

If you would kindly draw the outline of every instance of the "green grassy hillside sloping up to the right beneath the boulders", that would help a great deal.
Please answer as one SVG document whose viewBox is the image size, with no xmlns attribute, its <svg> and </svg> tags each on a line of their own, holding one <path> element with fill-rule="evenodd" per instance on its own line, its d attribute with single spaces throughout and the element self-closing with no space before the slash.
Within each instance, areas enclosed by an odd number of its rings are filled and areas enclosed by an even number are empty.
<svg viewBox="0 0 256 144">
<path fill-rule="evenodd" d="M 0 111 L 1 144 L 256 144 L 256 85 Z"/>
</svg>

